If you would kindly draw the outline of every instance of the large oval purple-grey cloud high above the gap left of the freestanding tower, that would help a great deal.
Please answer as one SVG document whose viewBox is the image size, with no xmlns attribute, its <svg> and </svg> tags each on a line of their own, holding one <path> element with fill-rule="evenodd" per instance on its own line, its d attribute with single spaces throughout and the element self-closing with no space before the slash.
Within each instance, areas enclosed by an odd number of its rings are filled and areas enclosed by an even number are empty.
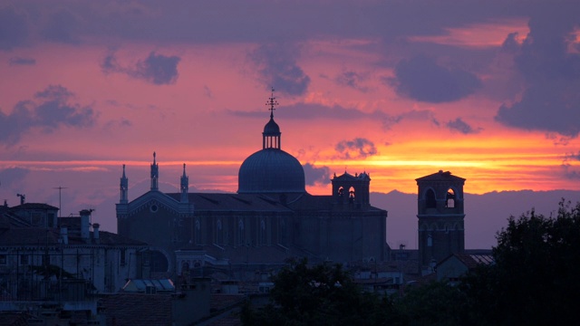
<svg viewBox="0 0 580 326">
<path fill-rule="evenodd" d="M 395 77 L 384 79 L 395 91 L 417 101 L 458 101 L 481 87 L 478 77 L 459 68 L 443 67 L 433 58 L 416 56 L 395 66 Z"/>
</svg>

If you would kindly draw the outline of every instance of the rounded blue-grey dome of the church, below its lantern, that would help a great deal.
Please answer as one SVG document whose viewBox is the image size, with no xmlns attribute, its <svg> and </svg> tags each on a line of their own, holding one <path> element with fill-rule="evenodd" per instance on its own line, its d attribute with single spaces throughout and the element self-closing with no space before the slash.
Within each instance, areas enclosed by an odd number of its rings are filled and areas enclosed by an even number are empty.
<svg viewBox="0 0 580 326">
<path fill-rule="evenodd" d="M 237 177 L 238 194 L 305 192 L 304 168 L 282 149 L 262 149 L 250 155 Z"/>
</svg>

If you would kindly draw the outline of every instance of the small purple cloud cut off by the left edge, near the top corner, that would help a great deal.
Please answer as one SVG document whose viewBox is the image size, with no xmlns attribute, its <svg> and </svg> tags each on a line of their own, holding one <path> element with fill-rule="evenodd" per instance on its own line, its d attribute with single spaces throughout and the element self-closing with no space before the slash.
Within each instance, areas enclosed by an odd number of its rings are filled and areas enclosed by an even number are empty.
<svg viewBox="0 0 580 326">
<path fill-rule="evenodd" d="M 10 50 L 23 45 L 27 37 L 26 14 L 17 12 L 12 5 L 0 8 L 0 49 Z"/>
</svg>

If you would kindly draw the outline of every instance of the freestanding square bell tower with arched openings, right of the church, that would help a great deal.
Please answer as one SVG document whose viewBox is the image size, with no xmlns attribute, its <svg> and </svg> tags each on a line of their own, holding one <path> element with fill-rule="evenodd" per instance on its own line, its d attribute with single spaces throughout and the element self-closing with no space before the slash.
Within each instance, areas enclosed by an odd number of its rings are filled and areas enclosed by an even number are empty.
<svg viewBox="0 0 580 326">
<path fill-rule="evenodd" d="M 440 170 L 416 179 L 420 268 L 465 250 L 463 185 L 465 179 Z"/>
</svg>

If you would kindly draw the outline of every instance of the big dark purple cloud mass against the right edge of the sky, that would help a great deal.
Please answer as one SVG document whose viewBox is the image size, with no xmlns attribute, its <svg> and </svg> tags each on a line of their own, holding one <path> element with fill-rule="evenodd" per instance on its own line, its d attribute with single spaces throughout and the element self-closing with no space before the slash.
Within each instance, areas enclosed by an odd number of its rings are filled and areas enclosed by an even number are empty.
<svg viewBox="0 0 580 326">
<path fill-rule="evenodd" d="M 496 120 L 510 127 L 557 132 L 576 137 L 580 132 L 580 54 L 569 51 L 576 14 L 553 10 L 536 14 L 516 57 L 525 79 L 521 99 L 499 107 Z"/>
</svg>

